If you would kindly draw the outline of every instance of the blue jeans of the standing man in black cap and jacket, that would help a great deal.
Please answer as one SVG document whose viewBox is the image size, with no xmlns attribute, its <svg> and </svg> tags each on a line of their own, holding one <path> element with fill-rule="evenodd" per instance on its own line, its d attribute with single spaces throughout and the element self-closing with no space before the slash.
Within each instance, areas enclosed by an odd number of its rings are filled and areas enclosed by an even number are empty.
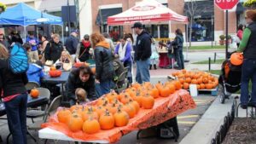
<svg viewBox="0 0 256 144">
<path fill-rule="evenodd" d="M 137 60 L 137 72 L 136 81 L 138 84 L 143 84 L 143 82 L 150 82 L 149 65 L 150 59 L 147 60 Z"/>
</svg>

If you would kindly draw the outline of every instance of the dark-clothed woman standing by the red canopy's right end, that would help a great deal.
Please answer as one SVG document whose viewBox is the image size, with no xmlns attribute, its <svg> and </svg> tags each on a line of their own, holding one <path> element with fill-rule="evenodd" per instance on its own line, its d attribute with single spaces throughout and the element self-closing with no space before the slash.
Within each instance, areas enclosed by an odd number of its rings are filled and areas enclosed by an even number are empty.
<svg viewBox="0 0 256 144">
<path fill-rule="evenodd" d="M 177 69 L 184 69 L 184 58 L 183 58 L 183 32 L 180 29 L 175 31 L 176 37 L 174 38 L 172 45 L 174 48 L 174 55 L 177 61 Z"/>
</svg>

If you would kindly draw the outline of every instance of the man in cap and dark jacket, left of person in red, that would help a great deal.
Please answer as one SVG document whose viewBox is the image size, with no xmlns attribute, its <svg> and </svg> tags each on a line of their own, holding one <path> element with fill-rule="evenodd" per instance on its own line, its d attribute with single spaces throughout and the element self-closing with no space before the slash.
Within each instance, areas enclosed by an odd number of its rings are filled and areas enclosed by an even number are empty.
<svg viewBox="0 0 256 144">
<path fill-rule="evenodd" d="M 78 32 L 79 32 L 78 30 L 73 30 L 70 33 L 70 36 L 67 37 L 65 46 L 66 46 L 66 49 L 67 49 L 67 51 L 69 52 L 70 55 L 75 55 L 76 54 L 77 47 L 78 47 L 78 44 L 79 44 L 79 39 L 77 38 L 78 37 Z"/>
</svg>

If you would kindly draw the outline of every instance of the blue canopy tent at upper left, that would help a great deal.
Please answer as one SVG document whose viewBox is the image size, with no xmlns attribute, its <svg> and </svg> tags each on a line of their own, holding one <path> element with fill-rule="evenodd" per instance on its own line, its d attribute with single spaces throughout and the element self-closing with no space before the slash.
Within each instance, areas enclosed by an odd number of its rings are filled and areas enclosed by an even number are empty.
<svg viewBox="0 0 256 144">
<path fill-rule="evenodd" d="M 25 37 L 26 26 L 42 25 L 43 23 L 59 26 L 63 25 L 61 17 L 42 13 L 39 10 L 26 5 L 26 3 L 18 3 L 14 7 L 6 9 L 5 12 L 0 14 L 0 26 L 24 26 Z"/>
</svg>

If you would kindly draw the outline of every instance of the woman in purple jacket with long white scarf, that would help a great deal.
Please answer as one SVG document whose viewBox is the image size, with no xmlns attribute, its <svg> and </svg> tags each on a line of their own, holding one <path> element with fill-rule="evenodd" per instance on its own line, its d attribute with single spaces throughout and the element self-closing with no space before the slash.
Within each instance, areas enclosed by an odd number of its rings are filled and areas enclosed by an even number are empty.
<svg viewBox="0 0 256 144">
<path fill-rule="evenodd" d="M 129 67 L 128 70 L 128 80 L 129 83 L 132 83 L 132 77 L 131 77 L 131 43 L 127 41 L 128 37 L 124 37 L 120 39 L 120 43 L 115 47 L 114 49 L 114 55 L 115 57 L 119 57 L 119 60 L 124 63 L 125 67 Z"/>
</svg>

